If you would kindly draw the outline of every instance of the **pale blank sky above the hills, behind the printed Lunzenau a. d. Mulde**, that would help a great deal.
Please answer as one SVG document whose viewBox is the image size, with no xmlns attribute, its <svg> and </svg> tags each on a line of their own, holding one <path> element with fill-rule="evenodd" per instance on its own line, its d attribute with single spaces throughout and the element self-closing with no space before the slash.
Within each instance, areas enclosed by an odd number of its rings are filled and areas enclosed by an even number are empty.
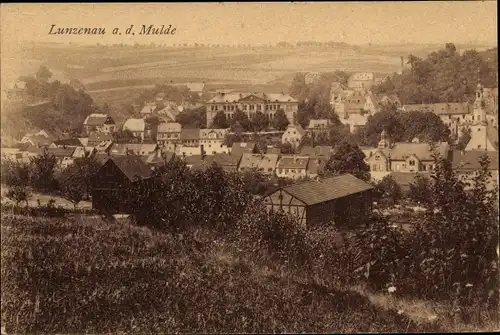
<svg viewBox="0 0 500 335">
<path fill-rule="evenodd" d="M 496 1 L 349 3 L 2 4 L 2 44 L 73 43 L 496 45 Z M 50 26 L 106 28 L 105 36 L 48 35 Z M 116 36 L 130 25 L 172 25 L 174 36 Z"/>
</svg>

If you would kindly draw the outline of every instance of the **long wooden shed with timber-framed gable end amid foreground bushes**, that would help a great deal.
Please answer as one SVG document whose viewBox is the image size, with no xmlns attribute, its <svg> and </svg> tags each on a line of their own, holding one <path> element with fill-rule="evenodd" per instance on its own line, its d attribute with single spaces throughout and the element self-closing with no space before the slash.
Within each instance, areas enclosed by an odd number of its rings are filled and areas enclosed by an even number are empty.
<svg viewBox="0 0 500 335">
<path fill-rule="evenodd" d="M 351 174 L 282 187 L 263 198 L 268 210 L 297 216 L 302 224 L 335 222 L 353 227 L 372 210 L 373 187 Z"/>
</svg>

